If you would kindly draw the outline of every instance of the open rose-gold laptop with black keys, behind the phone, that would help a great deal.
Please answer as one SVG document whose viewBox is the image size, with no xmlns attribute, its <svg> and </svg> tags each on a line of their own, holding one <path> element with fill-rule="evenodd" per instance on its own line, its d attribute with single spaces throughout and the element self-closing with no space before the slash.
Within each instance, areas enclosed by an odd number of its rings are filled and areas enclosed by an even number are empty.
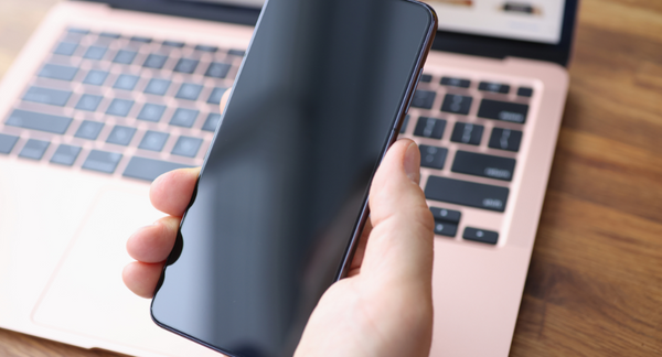
<svg viewBox="0 0 662 357">
<path fill-rule="evenodd" d="M 506 356 L 568 89 L 576 0 L 435 0 L 402 137 L 435 217 L 430 356 Z M 122 284 L 163 172 L 201 165 L 261 0 L 64 1 L 0 83 L 0 327 L 217 356 Z"/>
</svg>

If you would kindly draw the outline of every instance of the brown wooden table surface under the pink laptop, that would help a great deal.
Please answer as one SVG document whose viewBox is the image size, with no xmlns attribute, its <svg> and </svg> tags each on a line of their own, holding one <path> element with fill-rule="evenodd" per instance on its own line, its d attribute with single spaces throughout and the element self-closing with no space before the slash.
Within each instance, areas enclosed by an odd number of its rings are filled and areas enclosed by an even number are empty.
<svg viewBox="0 0 662 357">
<path fill-rule="evenodd" d="M 0 76 L 58 0 L 0 1 Z M 662 1 L 584 0 L 511 356 L 662 355 Z M 1 356 L 119 356 L 0 329 Z"/>
</svg>

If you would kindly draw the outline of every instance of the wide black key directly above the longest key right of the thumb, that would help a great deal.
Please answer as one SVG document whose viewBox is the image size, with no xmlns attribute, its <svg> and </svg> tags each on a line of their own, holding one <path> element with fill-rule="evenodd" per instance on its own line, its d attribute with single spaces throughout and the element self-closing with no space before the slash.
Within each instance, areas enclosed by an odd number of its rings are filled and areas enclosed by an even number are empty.
<svg viewBox="0 0 662 357">
<path fill-rule="evenodd" d="M 515 159 L 458 150 L 450 170 L 468 175 L 511 181 L 515 171 Z"/>
</svg>

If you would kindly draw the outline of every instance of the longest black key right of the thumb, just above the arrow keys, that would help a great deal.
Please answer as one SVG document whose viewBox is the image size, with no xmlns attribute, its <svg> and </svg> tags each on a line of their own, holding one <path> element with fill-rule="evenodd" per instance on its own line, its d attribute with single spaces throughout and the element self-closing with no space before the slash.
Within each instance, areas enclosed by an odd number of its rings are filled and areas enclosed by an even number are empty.
<svg viewBox="0 0 662 357">
<path fill-rule="evenodd" d="M 430 176 L 425 186 L 425 196 L 428 199 L 496 212 L 505 209 L 509 192 L 508 187 L 439 176 Z"/>
</svg>

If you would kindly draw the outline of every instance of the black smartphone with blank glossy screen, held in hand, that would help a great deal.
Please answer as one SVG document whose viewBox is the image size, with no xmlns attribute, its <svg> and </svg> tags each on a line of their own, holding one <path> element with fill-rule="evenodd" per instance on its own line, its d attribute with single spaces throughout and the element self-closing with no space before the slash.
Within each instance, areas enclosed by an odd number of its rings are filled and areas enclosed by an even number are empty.
<svg viewBox="0 0 662 357">
<path fill-rule="evenodd" d="M 292 356 L 352 259 L 436 31 L 417 1 L 267 1 L 154 293 L 159 326 Z"/>
</svg>

